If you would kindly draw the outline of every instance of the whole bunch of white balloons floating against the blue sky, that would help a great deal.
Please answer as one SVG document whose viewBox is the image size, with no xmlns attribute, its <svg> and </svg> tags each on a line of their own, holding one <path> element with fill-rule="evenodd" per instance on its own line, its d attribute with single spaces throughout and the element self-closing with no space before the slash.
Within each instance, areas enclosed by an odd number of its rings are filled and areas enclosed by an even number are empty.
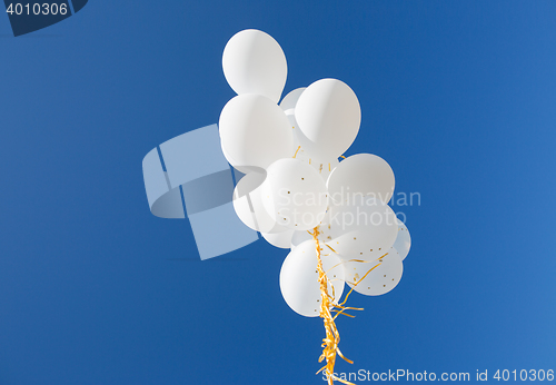
<svg viewBox="0 0 556 385">
<path fill-rule="evenodd" d="M 286 57 L 275 39 L 258 30 L 240 31 L 228 41 L 222 67 L 238 93 L 220 115 L 222 151 L 246 174 L 235 189 L 234 207 L 268 243 L 291 248 L 280 272 L 289 307 L 324 317 L 322 292 L 330 298 L 328 307 L 341 308 L 345 283 L 369 296 L 391 290 L 401 278 L 410 237 L 387 205 L 395 182 L 390 166 L 370 154 L 338 161 L 361 120 L 351 88 L 322 79 L 289 92 L 278 105 Z M 325 287 L 317 264 L 326 272 Z"/>
</svg>

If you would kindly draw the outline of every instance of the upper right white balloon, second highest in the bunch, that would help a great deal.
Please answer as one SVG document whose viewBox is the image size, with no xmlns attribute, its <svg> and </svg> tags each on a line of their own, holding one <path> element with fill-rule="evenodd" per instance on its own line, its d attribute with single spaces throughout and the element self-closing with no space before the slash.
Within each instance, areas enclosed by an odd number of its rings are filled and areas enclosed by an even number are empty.
<svg viewBox="0 0 556 385">
<path fill-rule="evenodd" d="M 357 96 L 345 82 L 322 79 L 301 93 L 296 119 L 301 147 L 324 159 L 338 158 L 354 142 L 361 122 Z"/>
</svg>

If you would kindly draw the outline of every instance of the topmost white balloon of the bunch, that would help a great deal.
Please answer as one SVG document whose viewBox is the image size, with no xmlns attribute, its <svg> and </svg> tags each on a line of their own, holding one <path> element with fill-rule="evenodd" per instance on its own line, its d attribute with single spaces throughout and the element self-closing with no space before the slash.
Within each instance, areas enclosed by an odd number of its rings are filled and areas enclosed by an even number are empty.
<svg viewBox="0 0 556 385">
<path fill-rule="evenodd" d="M 280 100 L 288 66 L 280 45 L 268 33 L 247 29 L 234 34 L 224 49 L 222 68 L 238 95 L 262 95 L 275 103 Z"/>
</svg>

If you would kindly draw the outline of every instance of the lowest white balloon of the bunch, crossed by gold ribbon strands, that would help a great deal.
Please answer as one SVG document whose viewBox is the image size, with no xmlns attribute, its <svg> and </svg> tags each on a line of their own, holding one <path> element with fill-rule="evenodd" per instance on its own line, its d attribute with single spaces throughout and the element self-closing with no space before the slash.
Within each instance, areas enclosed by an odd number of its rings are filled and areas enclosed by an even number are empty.
<svg viewBox="0 0 556 385">
<path fill-rule="evenodd" d="M 337 303 L 344 293 L 344 266 L 334 254 L 321 251 L 322 269 L 329 283 L 328 294 Z M 334 287 L 334 292 L 332 292 Z M 317 253 L 315 243 L 307 240 L 292 249 L 281 266 L 280 290 L 286 304 L 296 313 L 306 317 L 320 314 L 320 285 L 317 273 Z"/>
</svg>

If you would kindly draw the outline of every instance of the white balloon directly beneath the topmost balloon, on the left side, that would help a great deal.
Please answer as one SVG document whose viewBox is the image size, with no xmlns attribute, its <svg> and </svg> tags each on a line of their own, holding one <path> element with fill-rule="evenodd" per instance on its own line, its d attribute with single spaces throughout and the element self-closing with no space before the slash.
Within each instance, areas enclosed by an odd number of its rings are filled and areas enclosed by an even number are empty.
<svg viewBox="0 0 556 385">
<path fill-rule="evenodd" d="M 232 98 L 220 113 L 219 127 L 221 146 L 237 166 L 267 168 L 291 154 L 294 135 L 288 118 L 262 96 Z"/>
</svg>

